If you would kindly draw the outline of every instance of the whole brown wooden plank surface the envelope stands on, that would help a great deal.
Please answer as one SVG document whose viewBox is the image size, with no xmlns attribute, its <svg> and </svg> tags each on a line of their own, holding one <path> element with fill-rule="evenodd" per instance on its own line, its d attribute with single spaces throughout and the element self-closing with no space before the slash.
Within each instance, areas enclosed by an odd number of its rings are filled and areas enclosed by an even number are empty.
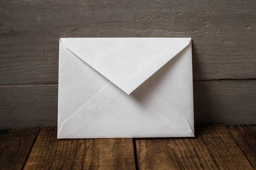
<svg viewBox="0 0 256 170">
<path fill-rule="evenodd" d="M 57 139 L 57 127 L 0 130 L 0 170 L 253 170 L 256 125 L 197 124 L 191 138 Z"/>
</svg>

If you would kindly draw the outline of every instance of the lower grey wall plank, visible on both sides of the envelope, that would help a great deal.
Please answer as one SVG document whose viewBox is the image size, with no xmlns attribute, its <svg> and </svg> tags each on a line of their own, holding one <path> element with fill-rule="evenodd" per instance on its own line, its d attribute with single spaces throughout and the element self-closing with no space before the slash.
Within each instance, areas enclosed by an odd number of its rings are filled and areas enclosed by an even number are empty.
<svg viewBox="0 0 256 170">
<path fill-rule="evenodd" d="M 256 80 L 194 81 L 197 123 L 255 124 Z M 58 85 L 0 85 L 0 128 L 57 124 Z"/>
</svg>

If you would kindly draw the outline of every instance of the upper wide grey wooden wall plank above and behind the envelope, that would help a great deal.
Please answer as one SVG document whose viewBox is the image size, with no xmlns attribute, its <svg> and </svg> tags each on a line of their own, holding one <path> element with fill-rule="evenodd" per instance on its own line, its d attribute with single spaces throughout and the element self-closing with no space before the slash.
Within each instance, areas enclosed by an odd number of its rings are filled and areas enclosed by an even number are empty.
<svg viewBox="0 0 256 170">
<path fill-rule="evenodd" d="M 58 82 L 60 37 L 192 37 L 194 79 L 256 78 L 255 0 L 1 0 L 0 85 Z"/>
</svg>

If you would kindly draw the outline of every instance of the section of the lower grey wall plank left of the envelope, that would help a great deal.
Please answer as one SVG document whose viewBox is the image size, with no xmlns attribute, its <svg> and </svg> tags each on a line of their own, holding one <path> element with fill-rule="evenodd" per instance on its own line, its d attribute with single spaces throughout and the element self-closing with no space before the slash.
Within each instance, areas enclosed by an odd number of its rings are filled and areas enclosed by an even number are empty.
<svg viewBox="0 0 256 170">
<path fill-rule="evenodd" d="M 57 124 L 58 85 L 1 85 L 0 128 Z"/>
</svg>

